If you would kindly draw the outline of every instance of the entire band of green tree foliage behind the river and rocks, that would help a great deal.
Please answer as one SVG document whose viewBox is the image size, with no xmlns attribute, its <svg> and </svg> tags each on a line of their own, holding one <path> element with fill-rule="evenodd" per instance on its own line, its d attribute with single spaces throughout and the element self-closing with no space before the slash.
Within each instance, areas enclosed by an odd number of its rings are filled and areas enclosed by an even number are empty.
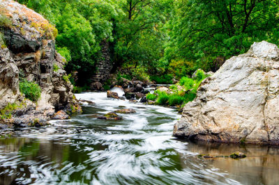
<svg viewBox="0 0 279 185">
<path fill-rule="evenodd" d="M 181 78 L 216 71 L 252 42 L 278 43 L 273 0 L 20 0 L 56 26 L 56 49 L 67 70 L 89 76 L 110 42 L 116 66 Z M 141 73 L 141 72 L 140 72 Z M 164 76 L 165 75 L 165 76 Z M 166 76 L 170 75 L 170 76 Z"/>
</svg>

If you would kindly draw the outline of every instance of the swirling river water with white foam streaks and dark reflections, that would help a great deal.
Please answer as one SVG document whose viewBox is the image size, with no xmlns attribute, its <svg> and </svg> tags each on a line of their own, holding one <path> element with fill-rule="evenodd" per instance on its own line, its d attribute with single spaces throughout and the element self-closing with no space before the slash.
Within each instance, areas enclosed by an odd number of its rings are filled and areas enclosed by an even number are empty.
<svg viewBox="0 0 279 185">
<path fill-rule="evenodd" d="M 172 137 L 174 109 L 82 93 L 84 113 L 43 128 L 1 131 L 0 184 L 278 184 L 278 147 L 191 143 Z M 97 120 L 119 106 L 137 113 Z M 122 107 L 121 107 L 122 108 Z M 200 159 L 198 154 L 245 159 Z"/>
</svg>

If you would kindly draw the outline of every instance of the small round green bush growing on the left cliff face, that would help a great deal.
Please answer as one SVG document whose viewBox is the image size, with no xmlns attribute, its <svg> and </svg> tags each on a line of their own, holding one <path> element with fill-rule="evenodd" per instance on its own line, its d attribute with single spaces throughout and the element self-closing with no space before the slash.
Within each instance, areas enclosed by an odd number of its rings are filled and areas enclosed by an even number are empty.
<svg viewBox="0 0 279 185">
<path fill-rule="evenodd" d="M 37 83 L 29 82 L 26 79 L 20 81 L 20 92 L 33 102 L 40 98 L 40 86 Z"/>
</svg>

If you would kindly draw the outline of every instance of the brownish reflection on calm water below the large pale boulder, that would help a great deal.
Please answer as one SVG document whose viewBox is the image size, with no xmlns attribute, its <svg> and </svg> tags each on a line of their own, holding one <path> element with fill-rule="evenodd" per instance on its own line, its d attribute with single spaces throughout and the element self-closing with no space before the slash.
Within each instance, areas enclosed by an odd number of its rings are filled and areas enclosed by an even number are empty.
<svg viewBox="0 0 279 185">
<path fill-rule="evenodd" d="M 219 168 L 227 172 L 230 177 L 242 184 L 278 184 L 279 180 L 279 148 L 276 146 L 233 145 L 220 143 L 195 142 L 188 143 L 190 152 L 197 154 L 212 154 L 215 156 L 229 155 L 240 151 L 247 154 L 244 159 L 216 158 L 199 159 L 197 163 L 204 166 Z M 191 160 L 191 159 L 190 159 Z M 181 154 L 181 164 L 187 168 L 189 161 L 187 155 Z"/>
</svg>

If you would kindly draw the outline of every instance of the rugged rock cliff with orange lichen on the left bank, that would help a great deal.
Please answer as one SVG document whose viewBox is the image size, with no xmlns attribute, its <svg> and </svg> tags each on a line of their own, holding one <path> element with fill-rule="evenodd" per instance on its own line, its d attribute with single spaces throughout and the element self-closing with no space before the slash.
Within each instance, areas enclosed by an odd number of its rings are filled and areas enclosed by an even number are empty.
<svg viewBox="0 0 279 185">
<path fill-rule="evenodd" d="M 0 110 L 8 111 L 10 104 L 20 107 L 1 122 L 24 126 L 50 120 L 61 109 L 80 111 L 63 70 L 66 60 L 55 51 L 56 35 L 55 27 L 38 13 L 15 1 L 0 0 Z M 40 86 L 38 102 L 20 92 L 23 79 Z"/>
</svg>

